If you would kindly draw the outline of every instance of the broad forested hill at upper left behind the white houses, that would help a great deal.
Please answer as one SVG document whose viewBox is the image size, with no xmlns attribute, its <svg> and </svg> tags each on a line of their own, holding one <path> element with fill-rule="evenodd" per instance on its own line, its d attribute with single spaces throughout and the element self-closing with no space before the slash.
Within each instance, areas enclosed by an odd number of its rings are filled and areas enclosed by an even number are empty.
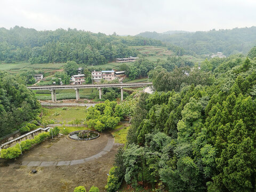
<svg viewBox="0 0 256 192">
<path fill-rule="evenodd" d="M 129 45 L 164 46 L 155 39 L 139 36 L 121 37 L 76 29 L 37 31 L 15 26 L 0 28 L 0 61 L 31 63 L 76 61 L 102 65 L 115 58 L 137 56 Z"/>
</svg>

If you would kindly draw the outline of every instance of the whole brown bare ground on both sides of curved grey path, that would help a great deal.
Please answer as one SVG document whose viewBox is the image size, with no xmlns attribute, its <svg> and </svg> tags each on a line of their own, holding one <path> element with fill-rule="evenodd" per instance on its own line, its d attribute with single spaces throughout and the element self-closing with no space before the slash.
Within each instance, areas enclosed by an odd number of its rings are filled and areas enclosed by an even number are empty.
<svg viewBox="0 0 256 192">
<path fill-rule="evenodd" d="M 85 186 L 89 191 L 92 185 L 106 191 L 107 173 L 113 166 L 116 149 L 94 161 L 70 166 L 29 167 L 21 166 L 22 161 L 54 161 L 85 158 L 101 151 L 107 143 L 106 134 L 92 141 L 73 141 L 67 137 L 55 141 L 46 140 L 17 158 L 15 162 L 2 163 L 0 167 L 0 191 L 74 191 L 77 186 Z M 33 169 L 36 174 L 29 174 Z"/>
</svg>

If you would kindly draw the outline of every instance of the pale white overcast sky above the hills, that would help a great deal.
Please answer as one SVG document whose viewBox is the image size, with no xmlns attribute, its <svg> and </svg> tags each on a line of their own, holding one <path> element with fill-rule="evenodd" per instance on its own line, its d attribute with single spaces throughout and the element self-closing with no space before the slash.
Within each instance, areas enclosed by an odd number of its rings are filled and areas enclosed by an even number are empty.
<svg viewBox="0 0 256 192">
<path fill-rule="evenodd" d="M 256 26 L 256 0 L 0 0 L 0 27 L 136 35 Z"/>
</svg>

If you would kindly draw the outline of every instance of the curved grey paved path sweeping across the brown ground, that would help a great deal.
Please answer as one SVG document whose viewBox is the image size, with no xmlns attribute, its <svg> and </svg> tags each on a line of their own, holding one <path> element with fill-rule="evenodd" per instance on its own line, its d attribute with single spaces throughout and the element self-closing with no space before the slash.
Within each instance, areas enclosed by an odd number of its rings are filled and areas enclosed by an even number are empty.
<svg viewBox="0 0 256 192">
<path fill-rule="evenodd" d="M 108 142 L 107 142 L 106 147 L 102 151 L 100 151 L 98 154 L 95 154 L 90 157 L 86 157 L 83 159 L 70 160 L 70 161 L 30 161 L 30 162 L 24 161 L 24 162 L 22 162 L 22 165 L 25 165 L 25 166 L 66 166 L 66 165 L 77 165 L 77 164 L 89 162 L 94 159 L 98 159 L 98 158 L 102 157 L 102 155 L 107 154 L 112 149 L 115 139 L 113 138 L 111 133 L 108 133 L 107 137 L 108 137 Z"/>
</svg>

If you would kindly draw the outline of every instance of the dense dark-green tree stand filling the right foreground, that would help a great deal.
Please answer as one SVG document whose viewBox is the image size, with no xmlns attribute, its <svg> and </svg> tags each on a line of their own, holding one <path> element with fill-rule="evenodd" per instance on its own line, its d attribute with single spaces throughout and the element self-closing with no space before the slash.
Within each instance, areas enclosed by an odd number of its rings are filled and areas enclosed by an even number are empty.
<svg viewBox="0 0 256 192">
<path fill-rule="evenodd" d="M 150 72 L 157 91 L 138 98 L 107 191 L 255 191 L 255 59 L 204 65 Z"/>
</svg>

